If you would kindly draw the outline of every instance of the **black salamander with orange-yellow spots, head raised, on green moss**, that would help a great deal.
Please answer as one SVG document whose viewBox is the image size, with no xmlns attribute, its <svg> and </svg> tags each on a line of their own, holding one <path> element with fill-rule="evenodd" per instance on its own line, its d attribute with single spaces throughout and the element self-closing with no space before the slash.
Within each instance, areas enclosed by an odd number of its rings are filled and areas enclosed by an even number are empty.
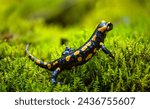
<svg viewBox="0 0 150 109">
<path fill-rule="evenodd" d="M 34 61 L 38 66 L 53 71 L 51 80 L 53 84 L 56 84 L 57 75 L 61 71 L 70 69 L 74 66 L 85 64 L 94 56 L 94 54 L 99 49 L 102 49 L 105 54 L 114 59 L 114 56 L 111 54 L 111 52 L 104 46 L 104 39 L 106 37 L 106 33 L 112 30 L 112 28 L 112 23 L 102 21 L 96 27 L 94 33 L 84 45 L 82 45 L 77 50 L 66 47 L 65 51 L 62 53 L 61 58 L 56 59 L 52 62 L 43 62 L 35 58 L 29 53 L 28 44 L 26 45 L 26 53 L 29 58 Z"/>
</svg>

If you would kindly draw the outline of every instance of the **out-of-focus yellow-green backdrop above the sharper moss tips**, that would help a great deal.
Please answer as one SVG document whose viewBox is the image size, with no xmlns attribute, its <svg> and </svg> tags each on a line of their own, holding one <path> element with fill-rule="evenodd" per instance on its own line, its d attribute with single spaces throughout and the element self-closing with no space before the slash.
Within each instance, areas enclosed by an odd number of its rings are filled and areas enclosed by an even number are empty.
<svg viewBox="0 0 150 109">
<path fill-rule="evenodd" d="M 101 20 L 131 25 L 134 31 L 138 25 L 149 25 L 149 7 L 149 0 L 1 0 L 0 35 L 20 40 L 32 33 L 33 40 L 65 37 L 71 28 L 91 33 Z"/>
</svg>

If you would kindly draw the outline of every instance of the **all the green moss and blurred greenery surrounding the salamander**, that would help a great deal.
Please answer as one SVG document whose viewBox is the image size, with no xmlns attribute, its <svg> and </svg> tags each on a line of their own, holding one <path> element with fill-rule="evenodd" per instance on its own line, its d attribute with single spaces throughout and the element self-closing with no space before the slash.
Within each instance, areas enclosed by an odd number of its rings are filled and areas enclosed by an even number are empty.
<svg viewBox="0 0 150 109">
<path fill-rule="evenodd" d="M 65 46 L 84 44 L 101 20 L 114 24 L 105 45 L 115 64 L 98 53 L 75 71 L 62 72 L 58 79 L 67 85 L 53 89 L 51 72 L 29 61 L 25 45 L 51 61 Z M 150 0 L 0 0 L 0 91 L 149 91 L 149 30 Z"/>
</svg>

